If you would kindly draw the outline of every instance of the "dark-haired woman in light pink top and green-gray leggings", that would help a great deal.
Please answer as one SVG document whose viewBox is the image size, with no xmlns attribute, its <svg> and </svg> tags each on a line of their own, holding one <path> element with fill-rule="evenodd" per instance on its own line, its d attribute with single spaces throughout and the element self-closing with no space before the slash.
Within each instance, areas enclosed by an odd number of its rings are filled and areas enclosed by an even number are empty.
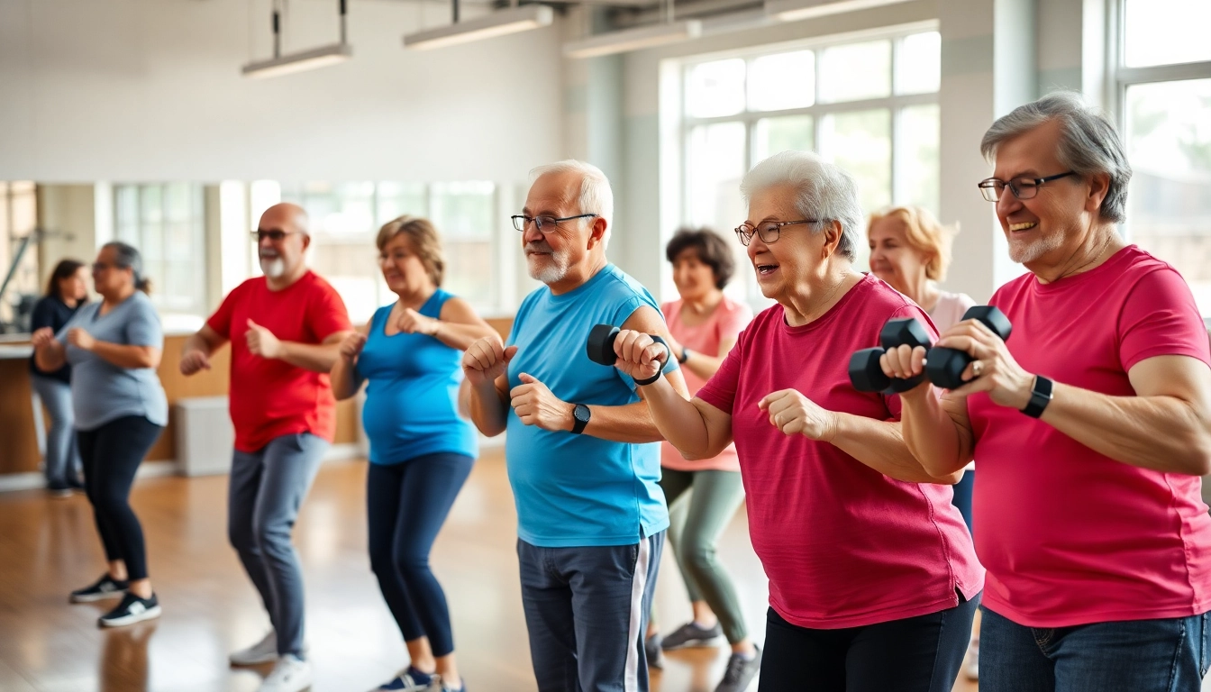
<svg viewBox="0 0 1211 692">
<path fill-rule="evenodd" d="M 665 303 L 661 311 L 673 337 L 670 345 L 693 395 L 719 370 L 753 313 L 723 294 L 736 263 L 731 248 L 718 235 L 706 229 L 679 230 L 665 255 L 673 265 L 681 299 Z M 694 619 L 662 641 L 653 619 L 648 646 L 655 657 L 649 656 L 649 663 L 660 660 L 660 647 L 672 651 L 710 646 L 727 635 L 731 657 L 718 692 L 745 690 L 757 674 L 757 650 L 748 639 L 731 577 L 716 557 L 719 534 L 745 497 L 736 448 L 729 445 L 717 457 L 690 462 L 662 442 L 660 465 L 660 487 L 668 502 L 668 545 L 681 567 Z"/>
</svg>

